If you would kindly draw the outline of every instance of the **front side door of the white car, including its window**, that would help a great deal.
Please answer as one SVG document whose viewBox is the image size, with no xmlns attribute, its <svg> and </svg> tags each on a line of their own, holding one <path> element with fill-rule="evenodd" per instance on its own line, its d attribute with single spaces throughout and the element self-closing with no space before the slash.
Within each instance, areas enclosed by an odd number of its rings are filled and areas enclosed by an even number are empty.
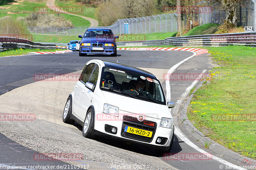
<svg viewBox="0 0 256 170">
<path fill-rule="evenodd" d="M 77 117 L 82 121 L 84 121 L 87 109 L 91 105 L 91 101 L 93 98 L 93 90 L 85 87 L 85 83 L 90 82 L 95 87 L 97 84 L 98 76 L 99 76 L 99 65 L 95 64 L 90 77 L 87 77 L 86 79 L 83 80 L 84 86 L 83 86 L 80 99 L 78 102 L 78 106 L 77 106 Z"/>
</svg>

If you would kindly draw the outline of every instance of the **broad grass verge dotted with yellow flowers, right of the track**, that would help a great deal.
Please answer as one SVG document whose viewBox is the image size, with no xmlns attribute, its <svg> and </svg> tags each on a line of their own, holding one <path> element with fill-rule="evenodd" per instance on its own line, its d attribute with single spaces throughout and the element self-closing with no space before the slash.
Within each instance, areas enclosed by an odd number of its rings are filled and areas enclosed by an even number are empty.
<svg viewBox="0 0 256 170">
<path fill-rule="evenodd" d="M 211 70 L 211 83 L 203 84 L 194 93 L 188 118 L 205 136 L 256 159 L 255 48 L 226 46 L 206 49 L 220 67 Z M 231 118 L 234 115 L 237 115 L 235 120 Z"/>
</svg>

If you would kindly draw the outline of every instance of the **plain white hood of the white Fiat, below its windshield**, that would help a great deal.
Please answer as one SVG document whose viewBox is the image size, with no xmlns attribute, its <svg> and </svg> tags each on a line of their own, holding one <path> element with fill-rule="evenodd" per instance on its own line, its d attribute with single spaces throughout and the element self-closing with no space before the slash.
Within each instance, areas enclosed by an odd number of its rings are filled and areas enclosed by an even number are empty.
<svg viewBox="0 0 256 170">
<path fill-rule="evenodd" d="M 166 105 L 139 100 L 113 92 L 102 91 L 102 93 L 108 104 L 119 108 L 119 115 L 129 112 L 157 119 L 162 119 L 162 117 L 172 118 L 171 112 Z"/>
</svg>

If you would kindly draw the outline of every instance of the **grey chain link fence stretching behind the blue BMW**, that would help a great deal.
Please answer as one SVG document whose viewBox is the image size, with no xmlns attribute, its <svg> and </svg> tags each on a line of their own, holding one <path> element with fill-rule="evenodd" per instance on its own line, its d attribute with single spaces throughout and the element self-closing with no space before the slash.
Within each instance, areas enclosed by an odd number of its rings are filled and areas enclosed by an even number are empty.
<svg viewBox="0 0 256 170">
<path fill-rule="evenodd" d="M 178 30 L 176 14 L 152 15 L 140 18 L 118 19 L 111 26 L 102 26 L 112 29 L 115 35 L 166 33 Z M 101 27 L 101 26 L 97 26 Z M 39 27 L 29 26 L 29 31 L 36 35 L 83 35 L 87 27 Z"/>
</svg>

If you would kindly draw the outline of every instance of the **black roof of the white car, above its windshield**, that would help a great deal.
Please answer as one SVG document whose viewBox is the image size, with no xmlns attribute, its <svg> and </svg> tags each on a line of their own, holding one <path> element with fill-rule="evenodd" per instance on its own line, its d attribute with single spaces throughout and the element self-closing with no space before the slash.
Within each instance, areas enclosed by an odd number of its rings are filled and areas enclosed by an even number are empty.
<svg viewBox="0 0 256 170">
<path fill-rule="evenodd" d="M 108 62 L 108 61 L 103 61 L 103 62 L 105 64 L 105 67 L 113 68 L 113 69 L 116 69 L 116 70 L 133 72 L 133 73 L 137 73 L 137 74 L 140 74 L 140 75 L 144 75 L 144 76 L 147 76 L 147 77 L 157 79 L 156 76 L 154 76 L 152 73 L 150 73 L 148 71 L 145 71 L 145 70 L 138 69 L 136 67 L 132 67 L 132 66 L 124 65 L 124 64 L 120 64 L 120 63 Z"/>
</svg>

